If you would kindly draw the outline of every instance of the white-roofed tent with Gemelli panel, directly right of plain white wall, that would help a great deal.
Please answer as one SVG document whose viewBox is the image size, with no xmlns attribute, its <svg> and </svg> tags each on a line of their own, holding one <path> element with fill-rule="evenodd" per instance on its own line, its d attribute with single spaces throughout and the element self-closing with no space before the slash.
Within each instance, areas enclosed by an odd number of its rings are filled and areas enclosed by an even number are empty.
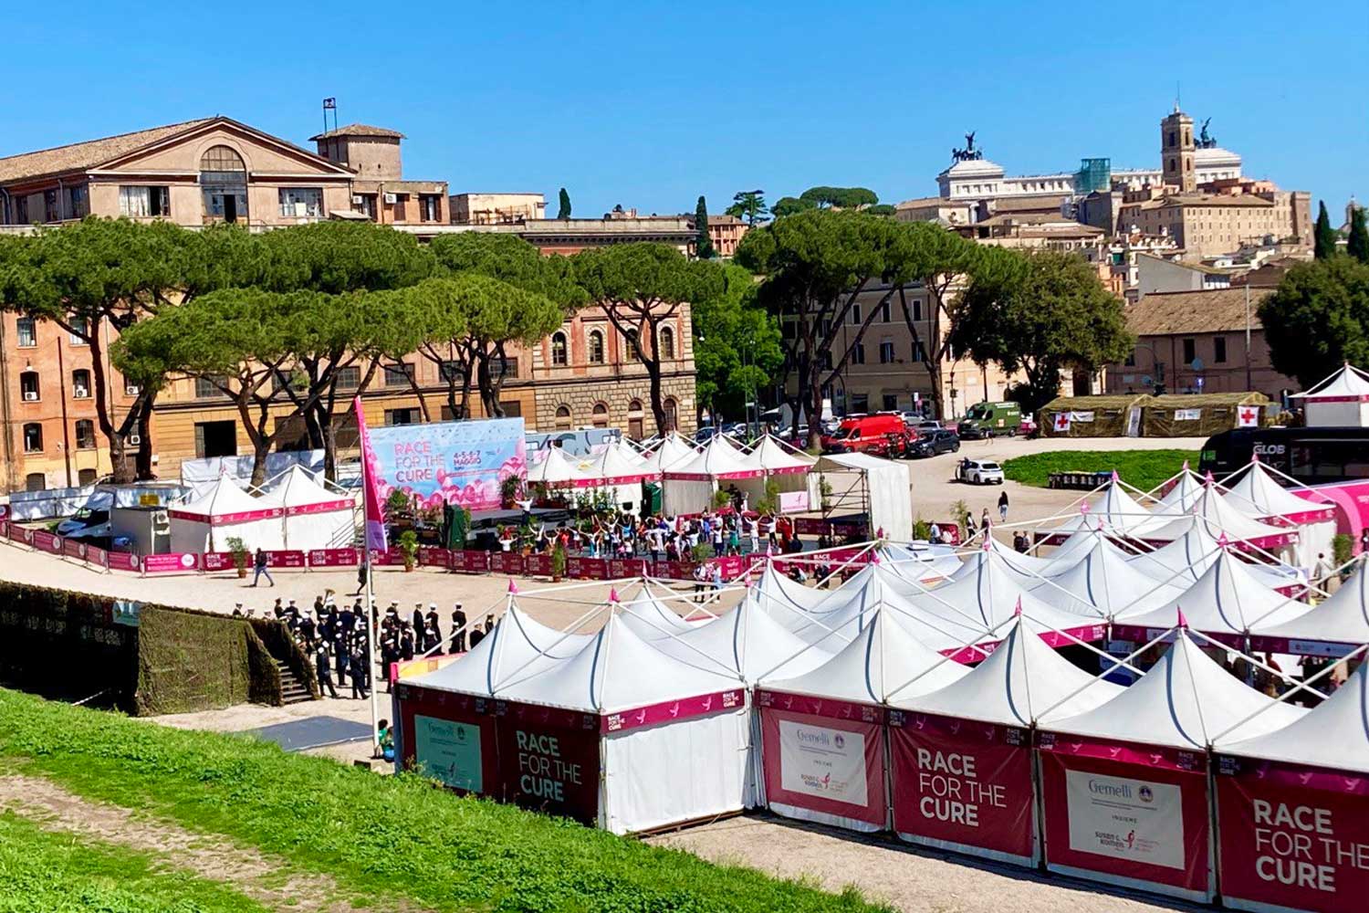
<svg viewBox="0 0 1369 913">
<path fill-rule="evenodd" d="M 763 679 L 757 701 L 769 808 L 856 831 L 887 827 L 880 725 L 887 697 L 895 689 L 946 687 L 965 672 L 886 608 L 823 665 Z"/>
</svg>

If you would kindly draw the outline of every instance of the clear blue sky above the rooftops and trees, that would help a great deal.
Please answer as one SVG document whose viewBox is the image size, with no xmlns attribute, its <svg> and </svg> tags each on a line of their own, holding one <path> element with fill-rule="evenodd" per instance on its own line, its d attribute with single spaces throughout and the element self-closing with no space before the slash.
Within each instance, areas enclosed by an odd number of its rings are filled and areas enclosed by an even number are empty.
<svg viewBox="0 0 1369 913">
<path fill-rule="evenodd" d="M 1179 83 L 1249 175 L 1338 218 L 1369 198 L 1364 0 L 57 7 L 5 14 L 0 155 L 208 114 L 308 145 L 335 96 L 408 136 L 409 178 L 553 209 L 564 185 L 580 216 L 816 183 L 897 203 L 967 130 L 1009 174 L 1158 167 Z"/>
</svg>

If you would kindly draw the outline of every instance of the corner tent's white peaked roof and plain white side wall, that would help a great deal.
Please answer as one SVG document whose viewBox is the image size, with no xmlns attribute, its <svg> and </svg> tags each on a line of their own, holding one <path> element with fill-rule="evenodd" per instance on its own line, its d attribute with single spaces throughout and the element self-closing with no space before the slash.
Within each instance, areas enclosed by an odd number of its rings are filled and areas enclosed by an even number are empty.
<svg viewBox="0 0 1369 913">
<path fill-rule="evenodd" d="M 538 708 L 593 720 L 578 732 L 561 730 L 557 750 L 597 750 L 596 820 L 606 831 L 646 831 L 745 805 L 750 725 L 741 680 L 661 653 L 617 615 L 578 654 L 501 697 L 513 705 L 513 725 L 527 727 L 520 734 L 535 728 Z"/>
</svg>

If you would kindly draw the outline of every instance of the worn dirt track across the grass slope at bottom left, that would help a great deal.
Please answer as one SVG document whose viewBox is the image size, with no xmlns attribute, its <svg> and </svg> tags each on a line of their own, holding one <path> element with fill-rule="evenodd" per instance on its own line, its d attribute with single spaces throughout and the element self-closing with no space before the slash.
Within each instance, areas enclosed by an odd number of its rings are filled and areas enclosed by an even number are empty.
<svg viewBox="0 0 1369 913">
<path fill-rule="evenodd" d="M 163 857 L 170 866 L 222 882 L 253 901 L 294 913 L 422 913 L 386 898 L 381 906 L 355 906 L 326 875 L 305 875 L 289 864 L 229 838 L 188 831 L 129 809 L 92 802 L 33 776 L 0 776 L 0 809 L 49 831 L 67 831 Z"/>
</svg>

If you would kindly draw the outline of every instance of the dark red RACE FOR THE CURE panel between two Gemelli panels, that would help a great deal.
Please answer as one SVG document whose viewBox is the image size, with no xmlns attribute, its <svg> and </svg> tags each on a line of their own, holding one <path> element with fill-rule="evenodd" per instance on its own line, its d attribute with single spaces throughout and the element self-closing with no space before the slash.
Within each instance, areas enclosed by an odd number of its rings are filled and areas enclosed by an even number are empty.
<svg viewBox="0 0 1369 913">
<path fill-rule="evenodd" d="M 891 710 L 894 831 L 1001 862 L 1035 865 L 1027 730 Z"/>
</svg>

